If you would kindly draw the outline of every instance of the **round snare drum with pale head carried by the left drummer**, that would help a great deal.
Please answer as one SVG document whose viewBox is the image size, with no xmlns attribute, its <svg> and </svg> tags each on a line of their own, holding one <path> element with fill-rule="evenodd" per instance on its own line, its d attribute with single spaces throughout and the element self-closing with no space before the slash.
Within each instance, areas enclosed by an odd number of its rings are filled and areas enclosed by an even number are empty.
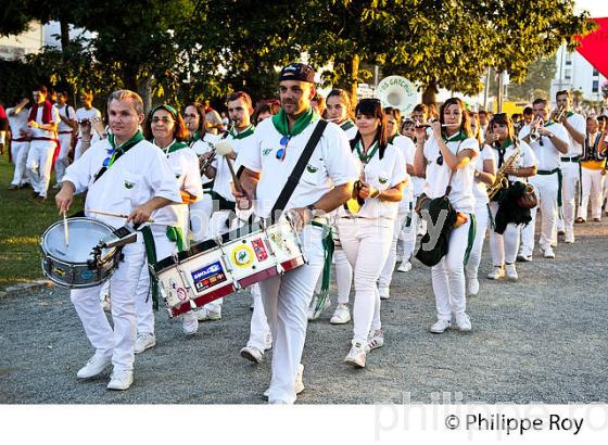
<svg viewBox="0 0 608 445">
<path fill-rule="evenodd" d="M 97 259 L 92 250 L 114 229 L 97 219 L 69 218 L 67 230 L 69 246 L 65 245 L 63 221 L 53 224 L 40 238 L 45 276 L 69 289 L 92 288 L 106 281 L 118 267 L 118 250 L 103 249 Z"/>
</svg>

